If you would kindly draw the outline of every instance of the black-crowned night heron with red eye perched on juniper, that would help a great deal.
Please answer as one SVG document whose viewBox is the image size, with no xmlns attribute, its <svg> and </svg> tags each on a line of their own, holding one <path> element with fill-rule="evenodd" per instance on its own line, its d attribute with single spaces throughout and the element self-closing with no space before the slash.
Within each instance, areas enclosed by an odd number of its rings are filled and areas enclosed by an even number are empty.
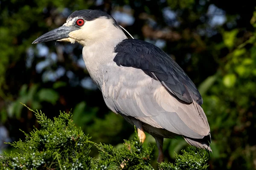
<svg viewBox="0 0 256 170">
<path fill-rule="evenodd" d="M 135 125 L 141 142 L 145 132 L 157 143 L 164 160 L 163 138 L 183 136 L 190 145 L 211 151 L 210 128 L 203 99 L 179 65 L 151 43 L 128 39 L 107 13 L 73 12 L 63 26 L 36 39 L 79 42 L 93 82 L 108 108 Z"/>
</svg>

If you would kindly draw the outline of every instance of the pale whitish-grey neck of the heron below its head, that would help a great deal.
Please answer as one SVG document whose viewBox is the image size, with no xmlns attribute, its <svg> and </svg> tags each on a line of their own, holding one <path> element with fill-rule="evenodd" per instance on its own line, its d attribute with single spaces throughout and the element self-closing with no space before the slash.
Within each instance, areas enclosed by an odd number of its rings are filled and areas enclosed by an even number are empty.
<svg viewBox="0 0 256 170">
<path fill-rule="evenodd" d="M 122 40 L 127 39 L 124 32 L 119 29 L 111 29 L 97 40 L 90 40 L 83 48 L 85 66 L 93 79 L 93 82 L 101 90 L 105 71 L 113 62 L 114 48 Z"/>
</svg>

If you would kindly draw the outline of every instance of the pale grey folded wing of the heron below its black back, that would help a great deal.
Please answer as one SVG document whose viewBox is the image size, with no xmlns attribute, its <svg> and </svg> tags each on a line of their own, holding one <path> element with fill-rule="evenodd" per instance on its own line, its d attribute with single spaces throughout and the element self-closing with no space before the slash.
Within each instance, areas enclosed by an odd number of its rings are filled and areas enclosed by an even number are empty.
<svg viewBox="0 0 256 170">
<path fill-rule="evenodd" d="M 105 74 L 102 94 L 115 113 L 189 138 L 209 135 L 207 118 L 198 103 L 181 103 L 140 69 L 113 65 Z"/>
</svg>

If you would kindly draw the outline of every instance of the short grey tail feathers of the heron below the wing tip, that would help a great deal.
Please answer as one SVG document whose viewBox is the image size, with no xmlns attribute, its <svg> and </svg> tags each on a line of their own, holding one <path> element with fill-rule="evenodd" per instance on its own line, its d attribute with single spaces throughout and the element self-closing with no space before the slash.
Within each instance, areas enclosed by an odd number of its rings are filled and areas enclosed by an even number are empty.
<svg viewBox="0 0 256 170">
<path fill-rule="evenodd" d="M 195 146 L 195 147 L 199 147 L 199 148 L 205 149 L 208 152 L 212 153 L 210 144 L 209 144 L 209 142 L 208 142 L 208 140 L 206 138 L 203 138 L 203 139 L 192 139 L 192 138 L 188 138 L 186 136 L 183 136 L 183 137 L 184 137 L 185 141 L 188 142 L 188 144 L 190 144 L 192 146 Z M 205 136 L 205 137 L 208 137 L 208 136 Z"/>
</svg>

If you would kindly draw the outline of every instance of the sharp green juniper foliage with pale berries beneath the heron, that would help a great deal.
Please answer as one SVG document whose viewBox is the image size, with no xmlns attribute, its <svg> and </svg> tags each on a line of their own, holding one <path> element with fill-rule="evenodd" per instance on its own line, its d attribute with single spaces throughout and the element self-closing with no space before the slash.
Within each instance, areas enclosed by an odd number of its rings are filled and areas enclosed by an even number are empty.
<svg viewBox="0 0 256 170">
<path fill-rule="evenodd" d="M 117 149 L 110 144 L 91 142 L 81 128 L 74 125 L 71 113 L 60 113 L 53 121 L 41 111 L 34 113 L 42 129 L 25 133 L 24 142 L 20 140 L 9 143 L 21 150 L 21 153 L 2 154 L 0 170 L 154 170 L 150 164 L 154 148 L 143 148 L 137 134 L 134 140 L 125 140 L 123 147 Z M 99 159 L 89 156 L 91 144 L 98 148 Z M 207 157 L 204 150 L 182 152 L 183 155 L 175 154 L 175 165 L 161 163 L 159 168 L 206 170 Z"/>
</svg>

